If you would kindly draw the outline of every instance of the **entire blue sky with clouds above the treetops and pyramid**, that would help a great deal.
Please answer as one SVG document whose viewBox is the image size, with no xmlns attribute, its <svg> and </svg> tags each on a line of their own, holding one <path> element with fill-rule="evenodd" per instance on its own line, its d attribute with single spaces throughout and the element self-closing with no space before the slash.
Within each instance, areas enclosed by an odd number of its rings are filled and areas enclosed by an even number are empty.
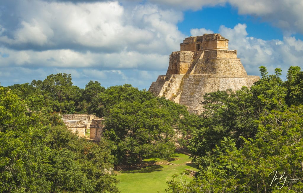
<svg viewBox="0 0 303 193">
<path fill-rule="evenodd" d="M 301 0 L 0 0 L 2 86 L 72 74 L 148 89 L 187 36 L 221 33 L 249 75 L 302 67 Z"/>
</svg>

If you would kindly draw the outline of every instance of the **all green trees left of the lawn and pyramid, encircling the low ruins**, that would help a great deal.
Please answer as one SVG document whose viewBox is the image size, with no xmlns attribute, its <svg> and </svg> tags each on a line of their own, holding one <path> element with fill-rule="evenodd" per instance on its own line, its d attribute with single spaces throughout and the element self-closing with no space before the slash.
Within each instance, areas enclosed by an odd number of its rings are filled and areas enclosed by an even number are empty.
<svg viewBox="0 0 303 193">
<path fill-rule="evenodd" d="M 0 88 L 1 192 L 117 192 L 113 164 L 168 158 L 189 114 L 129 84 L 74 86 L 70 74 Z M 105 118 L 99 144 L 72 134 L 59 113 Z"/>
</svg>

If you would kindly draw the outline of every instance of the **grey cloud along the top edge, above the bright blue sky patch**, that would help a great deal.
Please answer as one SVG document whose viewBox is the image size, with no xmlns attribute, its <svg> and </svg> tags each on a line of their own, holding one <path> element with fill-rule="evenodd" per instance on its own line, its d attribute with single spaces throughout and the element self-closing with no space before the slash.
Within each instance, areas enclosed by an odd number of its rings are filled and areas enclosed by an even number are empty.
<svg viewBox="0 0 303 193">
<path fill-rule="evenodd" d="M 303 33 L 303 2 L 301 0 L 149 0 L 180 10 L 200 10 L 204 7 L 224 6 L 227 3 L 239 14 L 252 15 L 284 30 L 285 34 Z"/>
</svg>

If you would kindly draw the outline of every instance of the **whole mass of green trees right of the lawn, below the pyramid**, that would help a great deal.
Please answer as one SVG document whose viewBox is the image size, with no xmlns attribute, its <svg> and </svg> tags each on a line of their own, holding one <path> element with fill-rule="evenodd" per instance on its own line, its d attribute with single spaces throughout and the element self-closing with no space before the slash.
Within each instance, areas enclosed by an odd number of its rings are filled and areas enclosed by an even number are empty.
<svg viewBox="0 0 303 193">
<path fill-rule="evenodd" d="M 199 172 L 168 182 L 168 192 L 302 192 L 302 71 L 280 69 L 250 89 L 205 95 L 205 112 L 188 148 Z M 275 176 L 276 175 L 276 176 Z M 284 183 L 284 179 L 287 181 Z"/>
</svg>

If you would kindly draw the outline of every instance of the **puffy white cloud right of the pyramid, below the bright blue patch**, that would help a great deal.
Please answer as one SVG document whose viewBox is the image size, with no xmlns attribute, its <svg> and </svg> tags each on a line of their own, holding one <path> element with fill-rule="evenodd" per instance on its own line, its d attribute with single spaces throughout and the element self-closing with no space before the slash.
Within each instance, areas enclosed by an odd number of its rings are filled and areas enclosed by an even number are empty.
<svg viewBox="0 0 303 193">
<path fill-rule="evenodd" d="M 293 36 L 284 36 L 282 41 L 254 38 L 248 36 L 246 24 L 234 28 L 221 26 L 219 33 L 229 39 L 229 49 L 237 49 L 238 58 L 251 75 L 258 74 L 261 65 L 271 73 L 275 68 L 282 68 L 283 76 L 291 65 L 302 66 L 303 41 Z"/>
</svg>

